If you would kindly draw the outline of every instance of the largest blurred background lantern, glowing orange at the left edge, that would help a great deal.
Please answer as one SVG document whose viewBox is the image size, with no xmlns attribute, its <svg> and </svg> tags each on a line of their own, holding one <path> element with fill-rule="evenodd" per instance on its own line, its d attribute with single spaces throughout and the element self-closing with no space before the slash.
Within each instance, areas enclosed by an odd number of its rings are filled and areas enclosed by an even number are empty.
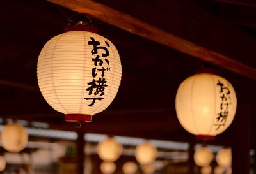
<svg viewBox="0 0 256 174">
<path fill-rule="evenodd" d="M 20 124 L 7 124 L 1 133 L 1 140 L 8 152 L 20 152 L 28 144 L 28 132 Z"/>
</svg>

